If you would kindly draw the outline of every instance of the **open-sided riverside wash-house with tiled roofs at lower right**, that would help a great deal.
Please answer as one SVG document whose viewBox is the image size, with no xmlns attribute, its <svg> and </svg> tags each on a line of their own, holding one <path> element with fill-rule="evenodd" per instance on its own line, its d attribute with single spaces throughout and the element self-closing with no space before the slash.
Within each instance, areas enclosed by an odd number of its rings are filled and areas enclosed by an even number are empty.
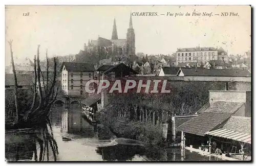
<svg viewBox="0 0 256 166">
<path fill-rule="evenodd" d="M 213 141 L 214 138 L 219 148 L 227 152 L 229 150 L 223 146 L 225 142 L 232 140 L 233 144 L 241 145 L 242 151 L 244 144 L 251 144 L 250 91 L 210 90 L 208 103 L 206 108 L 197 112 L 197 116 L 177 128 L 177 131 L 181 131 L 183 145 L 198 148 L 201 144 L 208 145 L 207 141 Z M 222 141 L 218 141 L 221 139 L 216 136 L 222 137 Z"/>
</svg>

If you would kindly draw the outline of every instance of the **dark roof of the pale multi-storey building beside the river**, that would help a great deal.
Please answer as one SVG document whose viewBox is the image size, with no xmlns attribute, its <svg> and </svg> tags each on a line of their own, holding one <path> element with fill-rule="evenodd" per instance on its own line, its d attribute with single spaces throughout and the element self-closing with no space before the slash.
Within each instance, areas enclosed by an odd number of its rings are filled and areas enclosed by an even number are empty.
<svg viewBox="0 0 256 166">
<path fill-rule="evenodd" d="M 92 63 L 62 62 L 61 69 L 65 65 L 66 70 L 73 72 L 92 72 L 95 70 Z"/>
</svg>

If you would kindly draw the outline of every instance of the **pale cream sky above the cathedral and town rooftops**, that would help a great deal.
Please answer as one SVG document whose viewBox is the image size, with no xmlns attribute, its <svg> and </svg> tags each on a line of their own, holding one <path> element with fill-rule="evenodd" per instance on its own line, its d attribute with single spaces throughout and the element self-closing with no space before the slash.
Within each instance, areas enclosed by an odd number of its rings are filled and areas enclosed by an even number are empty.
<svg viewBox="0 0 256 166">
<path fill-rule="evenodd" d="M 29 16 L 23 16 L 28 12 Z M 250 50 L 250 6 L 6 6 L 6 65 L 10 63 L 10 39 L 18 59 L 33 59 L 37 44 L 41 58 L 46 49 L 50 57 L 77 54 L 89 39 L 111 39 L 114 17 L 118 38 L 125 39 L 131 12 L 158 14 L 133 16 L 136 53 L 172 54 L 177 48 L 199 45 L 222 47 L 235 55 Z M 184 15 L 166 16 L 167 12 Z M 201 15 L 192 16 L 193 12 Z M 203 16 L 203 12 L 212 12 L 212 16 Z M 238 15 L 221 16 L 222 12 Z"/>
</svg>

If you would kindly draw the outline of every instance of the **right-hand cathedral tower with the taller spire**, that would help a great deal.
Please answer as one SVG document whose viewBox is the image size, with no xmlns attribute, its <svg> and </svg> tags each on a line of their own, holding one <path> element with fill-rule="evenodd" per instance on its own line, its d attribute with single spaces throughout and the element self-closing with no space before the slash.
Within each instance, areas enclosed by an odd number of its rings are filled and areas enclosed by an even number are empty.
<svg viewBox="0 0 256 166">
<path fill-rule="evenodd" d="M 132 14 L 130 14 L 129 28 L 126 33 L 127 54 L 135 55 L 135 33 L 133 29 Z"/>
</svg>

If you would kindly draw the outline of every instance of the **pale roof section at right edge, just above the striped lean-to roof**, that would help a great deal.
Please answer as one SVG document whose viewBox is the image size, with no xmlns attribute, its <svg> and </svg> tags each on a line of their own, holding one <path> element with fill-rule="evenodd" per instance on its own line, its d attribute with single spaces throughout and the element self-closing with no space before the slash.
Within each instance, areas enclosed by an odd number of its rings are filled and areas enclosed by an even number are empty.
<svg viewBox="0 0 256 166">
<path fill-rule="evenodd" d="M 250 134 L 251 117 L 231 116 L 222 128 Z"/>
</svg>

